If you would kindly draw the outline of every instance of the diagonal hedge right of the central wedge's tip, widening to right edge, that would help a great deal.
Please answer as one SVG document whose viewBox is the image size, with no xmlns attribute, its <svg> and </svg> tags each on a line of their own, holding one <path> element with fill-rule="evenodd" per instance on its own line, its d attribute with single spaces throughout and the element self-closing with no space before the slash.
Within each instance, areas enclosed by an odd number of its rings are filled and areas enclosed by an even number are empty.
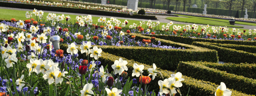
<svg viewBox="0 0 256 96">
<path fill-rule="evenodd" d="M 219 61 L 230 63 L 256 63 L 256 55 L 253 53 L 219 47 L 207 42 L 193 42 L 192 45 L 209 48 L 218 51 Z"/>
</svg>

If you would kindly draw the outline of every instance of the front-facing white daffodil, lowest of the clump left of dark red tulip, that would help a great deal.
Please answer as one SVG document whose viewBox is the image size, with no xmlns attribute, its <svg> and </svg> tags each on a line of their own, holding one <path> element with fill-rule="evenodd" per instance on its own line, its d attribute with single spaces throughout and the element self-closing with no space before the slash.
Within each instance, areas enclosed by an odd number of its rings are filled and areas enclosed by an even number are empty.
<svg viewBox="0 0 256 96">
<path fill-rule="evenodd" d="M 55 68 L 54 66 L 52 66 L 50 67 L 49 70 L 45 72 L 45 74 L 43 75 L 43 78 L 48 79 L 49 85 L 55 82 L 54 78 L 56 78 L 59 75 L 60 73 L 59 70 L 60 70 L 59 68 Z"/>
</svg>

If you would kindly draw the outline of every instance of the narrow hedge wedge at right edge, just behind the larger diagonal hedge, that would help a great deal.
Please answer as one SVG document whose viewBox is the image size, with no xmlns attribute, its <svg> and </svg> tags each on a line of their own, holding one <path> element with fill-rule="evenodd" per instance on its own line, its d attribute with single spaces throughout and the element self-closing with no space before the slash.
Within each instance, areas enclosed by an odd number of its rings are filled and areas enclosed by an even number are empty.
<svg viewBox="0 0 256 96">
<path fill-rule="evenodd" d="M 241 50 L 249 53 L 256 53 L 256 46 L 248 45 L 235 45 L 235 44 L 220 44 L 220 43 L 209 43 L 211 45 L 217 45 L 219 47 L 231 48 L 235 50 Z"/>
</svg>

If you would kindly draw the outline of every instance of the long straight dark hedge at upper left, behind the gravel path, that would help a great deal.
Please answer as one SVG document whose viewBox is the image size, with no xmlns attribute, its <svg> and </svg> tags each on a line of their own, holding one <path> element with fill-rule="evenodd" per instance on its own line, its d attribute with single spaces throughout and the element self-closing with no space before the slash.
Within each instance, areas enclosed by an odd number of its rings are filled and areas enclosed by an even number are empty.
<svg viewBox="0 0 256 96">
<path fill-rule="evenodd" d="M 91 9 L 44 6 L 44 5 L 22 4 L 22 3 L 1 2 L 0 6 L 15 7 L 15 8 L 26 8 L 26 9 L 36 8 L 37 10 L 71 12 L 71 13 L 82 13 L 82 14 L 86 13 L 86 14 L 107 15 L 107 16 L 128 17 L 128 18 L 143 18 L 143 19 L 150 19 L 150 20 L 157 19 L 156 16 L 130 15 L 128 13 L 117 13 L 117 12 L 108 12 L 108 11 L 91 10 Z"/>
</svg>

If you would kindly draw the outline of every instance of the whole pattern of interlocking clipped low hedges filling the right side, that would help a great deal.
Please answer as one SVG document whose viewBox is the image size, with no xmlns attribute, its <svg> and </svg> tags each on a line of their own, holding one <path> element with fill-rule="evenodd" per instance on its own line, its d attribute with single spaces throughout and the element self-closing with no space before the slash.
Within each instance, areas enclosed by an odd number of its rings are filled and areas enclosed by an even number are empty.
<svg viewBox="0 0 256 96">
<path fill-rule="evenodd" d="M 249 96 L 256 94 L 256 41 L 234 41 L 199 39 L 182 36 L 135 34 L 136 40 L 151 39 L 167 46 L 183 47 L 186 49 L 163 49 L 137 46 L 98 46 L 103 50 L 99 61 L 103 66 L 108 65 L 109 72 L 115 60 L 122 58 L 127 60 L 128 69 L 133 64 L 144 65 L 144 75 L 148 75 L 146 69 L 155 63 L 158 72 L 164 78 L 169 78 L 174 72 L 183 73 L 183 86 L 180 88 L 182 95 L 189 91 L 191 96 L 212 96 L 220 82 L 224 82 L 232 91 L 232 96 Z M 66 52 L 67 45 L 61 44 L 61 49 Z M 78 51 L 80 51 L 78 49 Z M 79 57 L 87 59 L 79 52 Z M 224 64 L 218 61 L 226 62 Z M 128 71 L 131 74 L 132 70 Z M 152 80 L 149 90 L 155 90 L 161 75 Z"/>
</svg>

